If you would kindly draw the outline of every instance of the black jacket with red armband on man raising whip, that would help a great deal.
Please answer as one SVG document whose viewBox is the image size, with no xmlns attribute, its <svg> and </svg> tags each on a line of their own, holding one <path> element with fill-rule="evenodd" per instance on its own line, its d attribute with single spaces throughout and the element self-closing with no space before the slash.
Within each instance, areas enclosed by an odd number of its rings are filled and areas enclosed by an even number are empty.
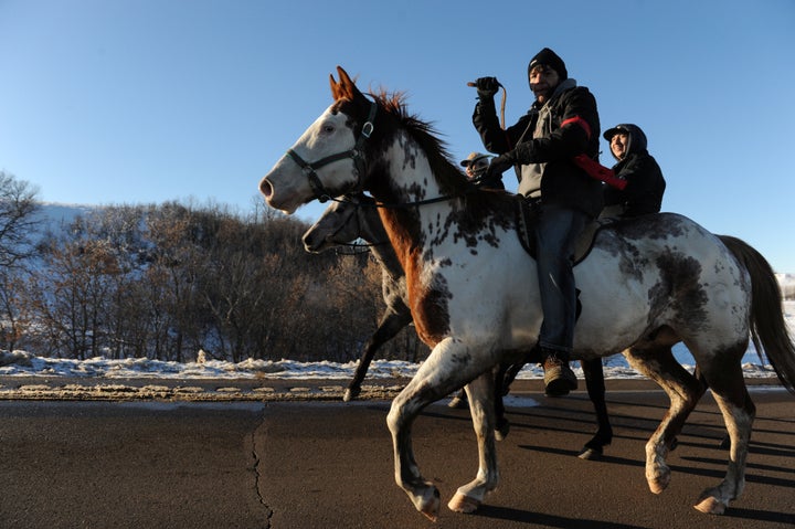
<svg viewBox="0 0 795 529">
<path fill-rule="evenodd" d="M 580 118 L 582 121 L 570 121 Z M 602 210 L 602 182 L 591 178 L 572 159 L 585 154 L 598 160 L 600 119 L 596 100 L 584 86 L 565 80 L 544 105 L 536 102 L 516 125 L 502 130 L 494 96 L 475 105 L 473 124 L 484 147 L 494 154 L 512 151 L 519 192 L 541 197 L 543 203 L 573 208 L 590 216 Z"/>
</svg>

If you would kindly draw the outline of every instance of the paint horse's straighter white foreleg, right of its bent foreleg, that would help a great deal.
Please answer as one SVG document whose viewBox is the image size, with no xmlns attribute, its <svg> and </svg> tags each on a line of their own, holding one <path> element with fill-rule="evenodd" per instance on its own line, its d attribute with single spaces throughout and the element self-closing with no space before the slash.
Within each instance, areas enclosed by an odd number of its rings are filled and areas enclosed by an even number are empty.
<svg viewBox="0 0 795 529">
<path fill-rule="evenodd" d="M 497 451 L 495 447 L 495 375 L 488 371 L 467 388 L 473 427 L 478 441 L 479 464 L 477 477 L 458 488 L 447 504 L 456 512 L 473 512 L 483 504 L 486 494 L 494 490 L 499 482 Z"/>
</svg>

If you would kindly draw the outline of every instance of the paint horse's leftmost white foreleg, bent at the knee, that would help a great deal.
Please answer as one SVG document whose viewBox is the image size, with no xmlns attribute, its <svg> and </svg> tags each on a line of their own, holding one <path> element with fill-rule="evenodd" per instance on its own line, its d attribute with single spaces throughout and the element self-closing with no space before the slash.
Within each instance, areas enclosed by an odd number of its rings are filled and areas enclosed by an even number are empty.
<svg viewBox="0 0 795 529">
<path fill-rule="evenodd" d="M 392 401 L 386 425 L 394 446 L 395 482 L 405 490 L 414 507 L 432 520 L 439 509 L 439 493 L 423 478 L 414 458 L 411 426 L 423 408 L 475 379 L 488 366 L 476 366 L 469 348 L 453 338 L 434 347 L 414 378 Z"/>
</svg>

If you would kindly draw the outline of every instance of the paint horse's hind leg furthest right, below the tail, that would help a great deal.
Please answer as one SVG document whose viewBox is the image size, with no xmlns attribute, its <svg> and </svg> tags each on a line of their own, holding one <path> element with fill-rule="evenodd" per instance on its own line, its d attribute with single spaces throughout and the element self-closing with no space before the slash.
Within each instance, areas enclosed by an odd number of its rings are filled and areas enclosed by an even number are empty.
<svg viewBox="0 0 795 529">
<path fill-rule="evenodd" d="M 745 487 L 745 458 L 756 408 L 745 388 L 742 366 L 739 361 L 744 350 L 745 346 L 739 346 L 738 350 L 729 351 L 725 357 L 732 357 L 736 358 L 738 361 L 730 363 L 721 360 L 720 364 L 713 361 L 702 369 L 704 378 L 712 389 L 712 395 L 723 414 L 723 421 L 731 440 L 731 448 L 729 451 L 729 466 L 723 482 L 717 487 L 704 490 L 695 506 L 701 512 L 723 514 L 729 506 L 729 501 L 739 497 Z M 738 353 L 738 351 L 740 352 Z"/>
</svg>

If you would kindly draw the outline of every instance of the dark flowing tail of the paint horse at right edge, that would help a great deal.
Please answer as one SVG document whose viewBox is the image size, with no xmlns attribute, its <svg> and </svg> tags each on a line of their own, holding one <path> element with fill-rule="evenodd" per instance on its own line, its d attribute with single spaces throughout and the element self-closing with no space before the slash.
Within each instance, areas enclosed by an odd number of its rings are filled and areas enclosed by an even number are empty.
<svg viewBox="0 0 795 529">
<path fill-rule="evenodd" d="M 795 345 L 784 321 L 781 287 L 773 268 L 761 253 L 744 241 L 730 235 L 718 237 L 751 276 L 751 339 L 756 353 L 764 362 L 764 349 L 781 383 L 795 394 Z"/>
</svg>

